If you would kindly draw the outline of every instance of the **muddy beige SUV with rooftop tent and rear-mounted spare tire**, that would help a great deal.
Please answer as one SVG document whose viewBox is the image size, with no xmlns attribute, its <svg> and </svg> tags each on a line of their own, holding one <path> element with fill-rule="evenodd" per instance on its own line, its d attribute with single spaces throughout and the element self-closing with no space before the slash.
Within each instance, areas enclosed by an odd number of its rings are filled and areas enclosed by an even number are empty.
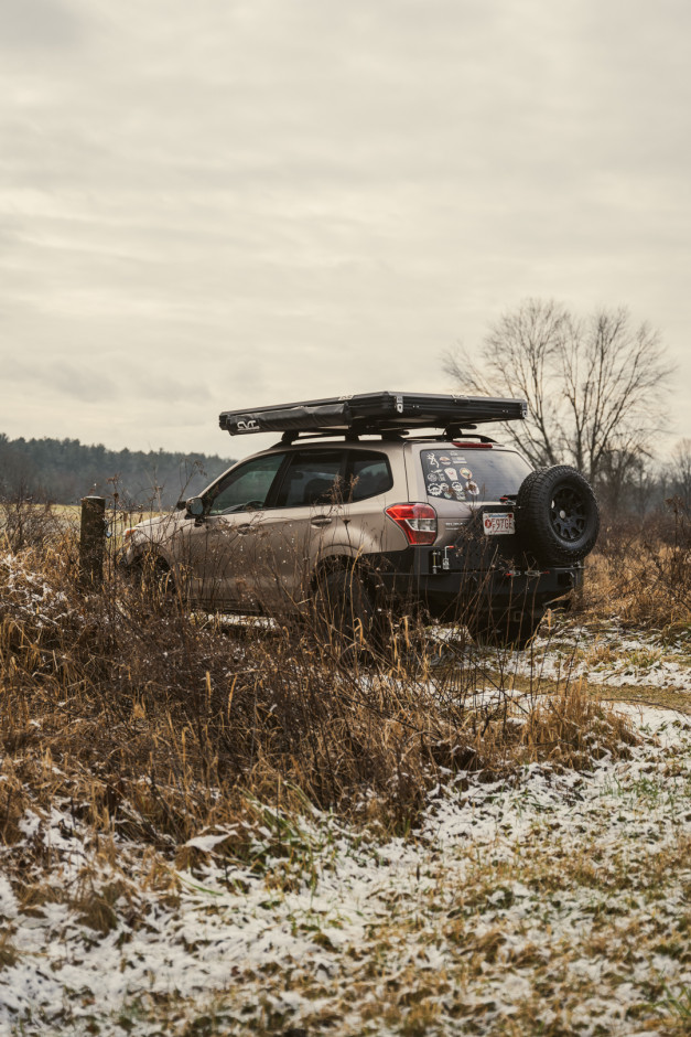
<svg viewBox="0 0 691 1037">
<path fill-rule="evenodd" d="M 574 469 L 532 471 L 475 431 L 523 415 L 521 400 L 395 393 L 226 411 L 231 435 L 281 440 L 128 531 L 123 560 L 153 560 L 204 609 L 316 602 L 349 632 L 422 611 L 522 642 L 581 584 L 598 525 Z"/>
</svg>

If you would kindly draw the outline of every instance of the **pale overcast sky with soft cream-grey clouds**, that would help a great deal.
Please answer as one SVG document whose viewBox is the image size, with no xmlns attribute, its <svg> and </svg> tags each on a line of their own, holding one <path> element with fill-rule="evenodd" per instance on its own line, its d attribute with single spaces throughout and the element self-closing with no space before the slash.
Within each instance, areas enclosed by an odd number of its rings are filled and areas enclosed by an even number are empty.
<svg viewBox="0 0 691 1037">
<path fill-rule="evenodd" d="M 688 0 L 0 0 L 0 431 L 450 388 L 526 297 L 628 306 L 691 436 Z"/>
</svg>

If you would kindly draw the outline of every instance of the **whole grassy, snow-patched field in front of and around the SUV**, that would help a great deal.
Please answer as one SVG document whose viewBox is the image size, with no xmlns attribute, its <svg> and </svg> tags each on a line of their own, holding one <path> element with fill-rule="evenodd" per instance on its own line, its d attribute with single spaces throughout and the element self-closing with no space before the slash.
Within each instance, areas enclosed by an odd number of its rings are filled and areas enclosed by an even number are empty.
<svg viewBox="0 0 691 1037">
<path fill-rule="evenodd" d="M 691 1033 L 688 543 L 344 659 L 0 556 L 0 1033 Z"/>
</svg>

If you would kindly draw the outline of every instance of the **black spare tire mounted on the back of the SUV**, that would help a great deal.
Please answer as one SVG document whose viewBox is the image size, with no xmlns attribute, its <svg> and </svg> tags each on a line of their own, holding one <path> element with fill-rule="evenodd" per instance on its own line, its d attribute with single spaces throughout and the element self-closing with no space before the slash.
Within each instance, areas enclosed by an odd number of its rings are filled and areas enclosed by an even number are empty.
<svg viewBox="0 0 691 1037">
<path fill-rule="evenodd" d="M 585 558 L 600 532 L 591 484 L 569 464 L 531 472 L 516 498 L 516 532 L 522 547 L 548 565 Z"/>
</svg>

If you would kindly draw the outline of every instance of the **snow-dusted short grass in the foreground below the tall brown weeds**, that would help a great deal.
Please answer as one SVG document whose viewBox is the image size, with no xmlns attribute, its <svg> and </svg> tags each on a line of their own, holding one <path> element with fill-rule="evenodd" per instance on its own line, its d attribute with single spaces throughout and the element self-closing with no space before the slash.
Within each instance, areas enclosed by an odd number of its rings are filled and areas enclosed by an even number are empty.
<svg viewBox="0 0 691 1037">
<path fill-rule="evenodd" d="M 460 774 L 406 840 L 267 810 L 180 872 L 28 814 L 57 863 L 30 905 L 0 870 L 0 1033 L 688 1033 L 691 725 L 630 712 L 628 759 Z"/>
</svg>

